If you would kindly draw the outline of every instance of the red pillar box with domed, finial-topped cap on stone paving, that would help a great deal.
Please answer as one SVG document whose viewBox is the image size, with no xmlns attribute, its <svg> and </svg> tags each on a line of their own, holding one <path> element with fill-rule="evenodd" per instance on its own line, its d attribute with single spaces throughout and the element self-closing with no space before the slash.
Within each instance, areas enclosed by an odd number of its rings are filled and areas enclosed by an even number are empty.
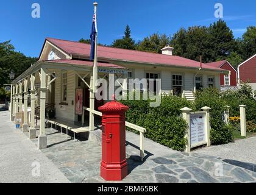
<svg viewBox="0 0 256 195">
<path fill-rule="evenodd" d="M 129 108 L 115 101 L 99 107 L 102 112 L 102 161 L 101 177 L 119 181 L 127 176 L 126 117 Z"/>
</svg>

